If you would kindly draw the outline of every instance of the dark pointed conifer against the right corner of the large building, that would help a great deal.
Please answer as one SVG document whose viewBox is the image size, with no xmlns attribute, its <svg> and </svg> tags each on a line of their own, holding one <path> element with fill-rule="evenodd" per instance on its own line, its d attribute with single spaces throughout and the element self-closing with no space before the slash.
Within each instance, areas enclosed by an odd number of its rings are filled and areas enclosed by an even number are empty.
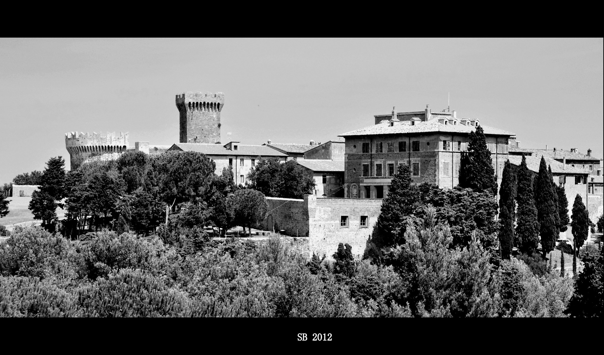
<svg viewBox="0 0 604 355">
<path fill-rule="evenodd" d="M 460 186 L 478 192 L 489 190 L 496 195 L 497 180 L 483 127 L 478 126 L 476 131 L 470 132 L 467 151 L 469 159 L 462 160 L 460 165 L 460 169 L 463 171 Z"/>
</svg>

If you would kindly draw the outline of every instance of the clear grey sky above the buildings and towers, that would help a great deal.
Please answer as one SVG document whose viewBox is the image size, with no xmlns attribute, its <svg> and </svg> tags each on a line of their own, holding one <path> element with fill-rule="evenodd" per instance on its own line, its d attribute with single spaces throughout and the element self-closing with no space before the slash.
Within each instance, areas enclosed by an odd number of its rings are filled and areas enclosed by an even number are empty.
<svg viewBox="0 0 604 355">
<path fill-rule="evenodd" d="M 68 131 L 178 142 L 177 93 L 223 92 L 222 142 L 307 143 L 447 107 L 525 148 L 604 156 L 602 39 L 0 39 L 0 184 Z M 231 132 L 231 136 L 227 133 Z"/>
</svg>

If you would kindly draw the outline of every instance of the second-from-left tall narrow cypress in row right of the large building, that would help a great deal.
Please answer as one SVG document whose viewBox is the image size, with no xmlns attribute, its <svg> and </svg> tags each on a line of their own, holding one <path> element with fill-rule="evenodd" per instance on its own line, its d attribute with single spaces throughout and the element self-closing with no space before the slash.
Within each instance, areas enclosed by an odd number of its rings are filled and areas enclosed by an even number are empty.
<svg viewBox="0 0 604 355">
<path fill-rule="evenodd" d="M 539 243 L 539 222 L 535 196 L 533 195 L 533 173 L 527 168 L 527 160 L 522 155 L 522 162 L 518 169 L 518 187 L 516 200 L 518 201 L 516 245 L 522 253 L 532 255 Z"/>
</svg>

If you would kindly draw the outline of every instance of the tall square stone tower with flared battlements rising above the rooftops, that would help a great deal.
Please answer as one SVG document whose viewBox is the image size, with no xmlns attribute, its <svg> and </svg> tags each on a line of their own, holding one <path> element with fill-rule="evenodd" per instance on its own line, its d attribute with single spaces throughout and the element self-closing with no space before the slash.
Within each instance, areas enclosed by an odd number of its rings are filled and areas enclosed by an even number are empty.
<svg viewBox="0 0 604 355">
<path fill-rule="evenodd" d="M 220 143 L 220 111 L 225 94 L 183 92 L 176 95 L 181 143 Z"/>
</svg>

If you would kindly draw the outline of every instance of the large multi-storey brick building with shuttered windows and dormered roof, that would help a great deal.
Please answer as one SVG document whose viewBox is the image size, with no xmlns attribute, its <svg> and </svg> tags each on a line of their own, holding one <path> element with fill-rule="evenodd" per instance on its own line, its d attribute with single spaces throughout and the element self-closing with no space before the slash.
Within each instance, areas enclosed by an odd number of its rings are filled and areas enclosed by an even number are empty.
<svg viewBox="0 0 604 355">
<path fill-rule="evenodd" d="M 480 120 L 457 119 L 455 111 L 402 112 L 376 115 L 370 127 L 341 134 L 345 137 L 345 196 L 384 198 L 401 164 L 410 165 L 414 183 L 428 182 L 450 189 L 459 183 L 461 152 Z M 482 126 L 501 183 L 514 134 Z"/>
</svg>

